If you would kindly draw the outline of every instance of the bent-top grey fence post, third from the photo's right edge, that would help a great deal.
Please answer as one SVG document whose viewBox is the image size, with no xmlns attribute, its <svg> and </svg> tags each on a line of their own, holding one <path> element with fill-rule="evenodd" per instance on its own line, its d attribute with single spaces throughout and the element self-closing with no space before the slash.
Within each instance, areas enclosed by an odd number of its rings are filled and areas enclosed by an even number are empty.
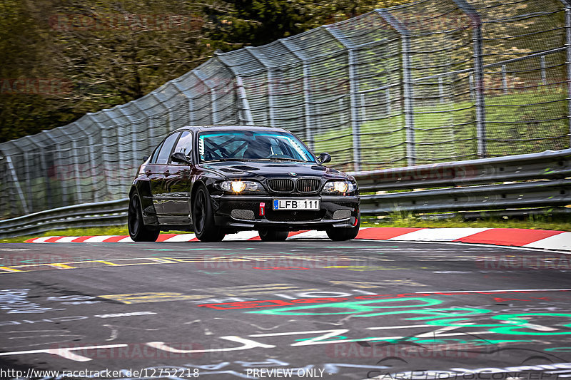
<svg viewBox="0 0 571 380">
<path fill-rule="evenodd" d="M 403 55 L 403 100 L 405 103 L 406 157 L 409 166 L 416 163 L 415 119 L 413 104 L 413 76 L 410 73 L 410 31 L 395 19 L 386 9 L 377 9 L 377 13 L 400 34 L 401 53 Z"/>
</svg>

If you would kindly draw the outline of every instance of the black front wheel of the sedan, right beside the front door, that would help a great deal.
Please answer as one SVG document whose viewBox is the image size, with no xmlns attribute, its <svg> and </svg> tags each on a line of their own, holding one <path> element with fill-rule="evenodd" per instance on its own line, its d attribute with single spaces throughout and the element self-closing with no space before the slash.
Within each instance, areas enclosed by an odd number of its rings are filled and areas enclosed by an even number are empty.
<svg viewBox="0 0 571 380">
<path fill-rule="evenodd" d="M 226 233 L 214 224 L 214 212 L 208 190 L 198 185 L 192 200 L 192 222 L 194 234 L 201 242 L 220 242 Z"/>
</svg>

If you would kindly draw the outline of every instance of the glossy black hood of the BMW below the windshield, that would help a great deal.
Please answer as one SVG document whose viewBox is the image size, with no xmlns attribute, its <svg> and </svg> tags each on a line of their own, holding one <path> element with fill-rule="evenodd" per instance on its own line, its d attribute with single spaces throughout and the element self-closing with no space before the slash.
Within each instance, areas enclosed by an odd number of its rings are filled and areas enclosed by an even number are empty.
<svg viewBox="0 0 571 380">
<path fill-rule="evenodd" d="M 314 163 L 276 162 L 276 161 L 232 161 L 201 165 L 228 179 L 234 178 L 350 178 L 345 173 Z M 295 175 L 291 174 L 295 173 Z"/>
</svg>

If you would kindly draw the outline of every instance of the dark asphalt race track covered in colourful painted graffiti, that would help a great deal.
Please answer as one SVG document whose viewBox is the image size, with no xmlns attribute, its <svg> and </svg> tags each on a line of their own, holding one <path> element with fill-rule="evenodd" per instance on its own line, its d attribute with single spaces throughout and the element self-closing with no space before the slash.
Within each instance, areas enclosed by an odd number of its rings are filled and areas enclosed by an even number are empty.
<svg viewBox="0 0 571 380">
<path fill-rule="evenodd" d="M 0 379 L 571 378 L 571 255 L 368 240 L 0 254 Z"/>
</svg>

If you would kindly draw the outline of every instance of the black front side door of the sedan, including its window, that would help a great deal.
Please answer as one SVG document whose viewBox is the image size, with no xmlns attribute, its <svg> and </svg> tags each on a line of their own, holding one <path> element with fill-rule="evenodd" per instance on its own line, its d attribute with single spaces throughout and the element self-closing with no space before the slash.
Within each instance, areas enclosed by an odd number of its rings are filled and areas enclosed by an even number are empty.
<svg viewBox="0 0 571 380">
<path fill-rule="evenodd" d="M 172 153 L 181 152 L 191 161 L 192 143 L 193 134 L 184 130 Z M 188 225 L 191 222 L 189 199 L 193 170 L 195 169 L 192 163 L 189 165 L 169 160 L 163 180 L 163 222 L 166 224 Z"/>
</svg>

